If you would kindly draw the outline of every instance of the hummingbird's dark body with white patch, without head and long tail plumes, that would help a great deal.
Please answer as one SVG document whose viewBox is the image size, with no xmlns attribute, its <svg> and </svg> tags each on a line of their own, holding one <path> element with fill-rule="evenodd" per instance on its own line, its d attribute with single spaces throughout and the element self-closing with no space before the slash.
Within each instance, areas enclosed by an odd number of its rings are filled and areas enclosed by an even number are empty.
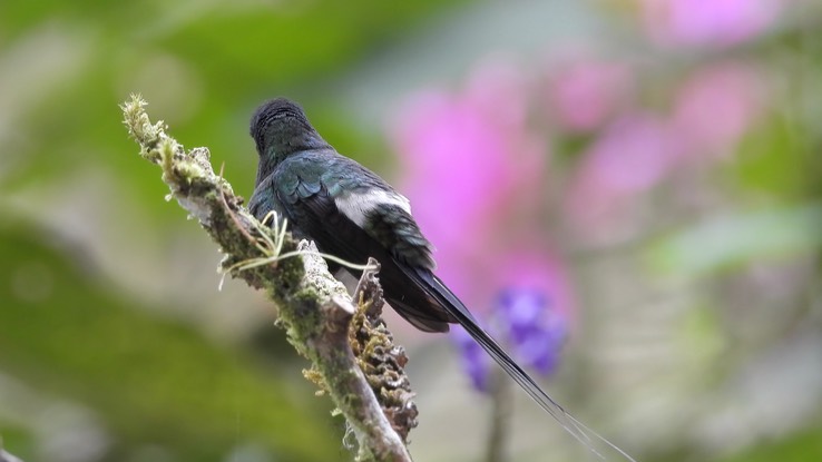
<svg viewBox="0 0 822 462">
<path fill-rule="evenodd" d="M 248 206 L 257 218 L 277 212 L 323 253 L 355 264 L 374 257 L 385 299 L 418 328 L 446 332 L 453 322 L 409 277 L 431 274 L 433 259 L 408 200 L 356 161 L 333 150 L 294 154 L 260 181 Z"/>
</svg>

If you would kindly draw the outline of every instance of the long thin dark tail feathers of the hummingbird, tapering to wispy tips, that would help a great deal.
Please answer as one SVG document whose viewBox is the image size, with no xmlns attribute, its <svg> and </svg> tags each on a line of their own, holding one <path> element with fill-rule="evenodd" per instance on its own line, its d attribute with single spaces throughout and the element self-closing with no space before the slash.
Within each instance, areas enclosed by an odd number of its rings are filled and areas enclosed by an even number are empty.
<svg viewBox="0 0 822 462">
<path fill-rule="evenodd" d="M 600 436 L 597 432 L 589 429 L 573 415 L 566 412 L 556 401 L 554 401 L 542 389 L 537 385 L 534 379 L 526 373 L 522 367 L 517 364 L 505 350 L 482 328 L 477 320 L 471 315 L 466 305 L 440 281 L 439 277 L 428 271 L 419 271 L 418 278 L 430 287 L 430 293 L 444 308 L 449 312 L 459 324 L 473 337 L 477 343 L 482 346 L 497 364 L 513 379 L 528 395 L 539 404 L 547 413 L 559 422 L 559 424 L 570 433 L 577 441 L 588 448 L 600 460 L 606 460 L 607 454 L 616 454 L 630 462 L 636 462 L 634 458 L 620 450 L 616 444 Z"/>
</svg>

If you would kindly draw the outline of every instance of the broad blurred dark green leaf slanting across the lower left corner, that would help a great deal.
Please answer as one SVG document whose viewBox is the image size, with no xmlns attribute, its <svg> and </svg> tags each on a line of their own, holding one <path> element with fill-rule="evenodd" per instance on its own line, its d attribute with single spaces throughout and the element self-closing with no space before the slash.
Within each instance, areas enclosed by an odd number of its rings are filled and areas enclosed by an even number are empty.
<svg viewBox="0 0 822 462">
<path fill-rule="evenodd" d="M 312 404 L 294 401 L 247 353 L 124 301 L 70 259 L 79 249 L 49 240 L 35 226 L 0 228 L 0 279 L 11 282 L 0 298 L 17 301 L 0 309 L 0 361 L 38 392 L 94 409 L 123 445 L 111 460 L 147 441 L 182 460 L 248 440 L 290 460 L 334 454 L 330 427 L 303 419 Z"/>
</svg>

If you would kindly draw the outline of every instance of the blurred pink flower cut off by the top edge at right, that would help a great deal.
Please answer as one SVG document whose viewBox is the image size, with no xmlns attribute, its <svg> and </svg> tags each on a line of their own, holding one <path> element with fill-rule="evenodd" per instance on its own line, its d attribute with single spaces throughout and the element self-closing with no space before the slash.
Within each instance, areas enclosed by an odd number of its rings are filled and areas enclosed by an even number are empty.
<svg viewBox="0 0 822 462">
<path fill-rule="evenodd" d="M 645 26 L 663 45 L 733 46 L 764 31 L 779 0 L 640 0 Z"/>
</svg>

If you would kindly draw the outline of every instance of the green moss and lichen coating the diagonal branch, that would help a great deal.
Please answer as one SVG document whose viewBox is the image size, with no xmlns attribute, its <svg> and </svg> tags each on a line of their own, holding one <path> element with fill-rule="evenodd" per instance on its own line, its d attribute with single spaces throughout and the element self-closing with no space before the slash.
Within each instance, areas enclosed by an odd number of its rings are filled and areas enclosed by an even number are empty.
<svg viewBox="0 0 822 462">
<path fill-rule="evenodd" d="M 129 120 L 128 114 L 126 119 Z M 144 120 L 141 115 L 136 119 L 145 122 L 143 128 L 148 124 L 147 117 Z M 156 127 L 149 125 L 150 128 Z M 133 132 L 137 131 L 133 130 Z M 136 137 L 140 140 L 138 135 Z M 327 320 L 323 318 L 320 309 L 321 304 L 334 295 L 345 295 L 342 285 L 334 282 L 327 272 L 322 269 L 312 271 L 306 275 L 303 258 L 299 255 L 267 264 L 266 259 L 278 257 L 274 247 L 282 247 L 282 253 L 291 253 L 296 248 L 291 236 L 287 236 L 281 246 L 278 236 L 275 236 L 277 229 L 271 229 L 253 222 L 254 218 L 239 207 L 242 199 L 228 194 L 231 187 L 219 188 L 218 185 L 224 180 L 211 170 L 204 153 L 193 150 L 186 154 L 182 146 L 168 138 L 162 129 L 157 137 L 160 139 L 158 150 L 164 171 L 163 179 L 180 204 L 189 208 L 189 212 L 205 213 L 200 209 L 190 209 L 189 204 L 207 209 L 208 219 L 200 216 L 204 222 L 203 227 L 222 246 L 223 250 L 231 255 L 224 259 L 223 268 L 231 271 L 232 276 L 241 277 L 254 287 L 265 289 L 277 304 L 281 325 L 286 327 L 288 342 L 312 363 L 312 368 L 305 373 L 306 379 L 320 385 L 321 390 L 327 391 L 350 420 L 356 416 L 355 413 L 364 412 L 362 409 L 364 397 L 345 392 L 360 386 L 356 383 L 360 380 L 360 372 L 356 365 L 352 364 L 349 350 L 340 345 L 329 347 L 329 345 L 319 344 L 324 340 L 323 331 L 329 327 L 325 325 Z M 251 227 L 247 226 L 249 220 Z M 258 266 L 241 265 L 244 269 L 236 266 L 246 262 L 256 263 Z M 390 345 L 390 336 L 378 333 L 375 340 L 371 337 L 365 340 L 364 350 L 379 361 L 385 357 L 384 348 L 381 350 L 380 345 L 385 343 Z M 371 365 L 371 370 L 378 368 Z M 373 377 L 378 375 L 376 372 L 372 374 Z M 380 390 L 376 382 L 372 386 L 374 390 Z M 351 424 L 364 431 L 372 423 L 363 422 L 363 416 L 355 417 L 351 420 Z M 360 455 L 368 453 L 368 449 L 361 449 Z"/>
</svg>

